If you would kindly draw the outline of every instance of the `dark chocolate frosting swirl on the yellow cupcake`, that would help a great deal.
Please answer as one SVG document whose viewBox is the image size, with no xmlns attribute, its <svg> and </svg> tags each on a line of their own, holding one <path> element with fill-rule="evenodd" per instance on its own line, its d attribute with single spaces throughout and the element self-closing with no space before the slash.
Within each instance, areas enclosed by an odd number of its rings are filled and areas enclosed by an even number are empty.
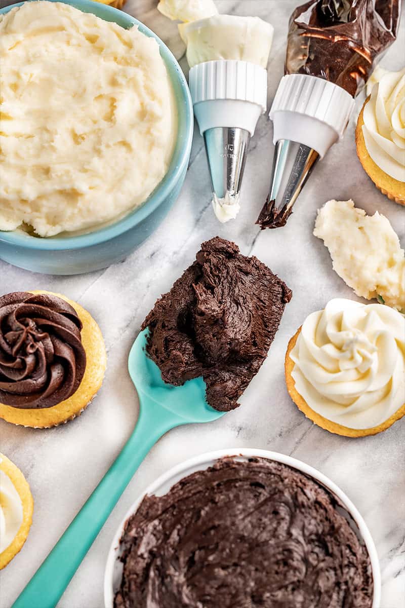
<svg viewBox="0 0 405 608">
<path fill-rule="evenodd" d="M 55 295 L 0 297 L 0 403 L 36 409 L 73 395 L 86 369 L 81 326 Z"/>
</svg>

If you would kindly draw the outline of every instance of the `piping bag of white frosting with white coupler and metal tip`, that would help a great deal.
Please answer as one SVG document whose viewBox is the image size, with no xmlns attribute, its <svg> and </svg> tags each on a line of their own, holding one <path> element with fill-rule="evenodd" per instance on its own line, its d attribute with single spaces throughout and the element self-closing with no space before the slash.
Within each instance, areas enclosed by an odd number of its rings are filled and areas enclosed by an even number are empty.
<svg viewBox="0 0 405 608">
<path fill-rule="evenodd" d="M 257 17 L 214 15 L 179 26 L 189 87 L 204 137 L 220 222 L 236 218 L 250 137 L 267 105 L 273 26 Z"/>
</svg>

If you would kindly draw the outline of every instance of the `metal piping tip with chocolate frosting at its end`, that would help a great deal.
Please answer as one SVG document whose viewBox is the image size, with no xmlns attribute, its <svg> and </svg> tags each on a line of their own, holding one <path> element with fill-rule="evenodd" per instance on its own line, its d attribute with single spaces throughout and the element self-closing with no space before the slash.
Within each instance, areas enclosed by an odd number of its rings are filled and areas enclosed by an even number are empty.
<svg viewBox="0 0 405 608">
<path fill-rule="evenodd" d="M 285 226 L 318 159 L 318 152 L 303 143 L 288 139 L 276 143 L 270 192 L 256 221 L 262 230 Z"/>
</svg>

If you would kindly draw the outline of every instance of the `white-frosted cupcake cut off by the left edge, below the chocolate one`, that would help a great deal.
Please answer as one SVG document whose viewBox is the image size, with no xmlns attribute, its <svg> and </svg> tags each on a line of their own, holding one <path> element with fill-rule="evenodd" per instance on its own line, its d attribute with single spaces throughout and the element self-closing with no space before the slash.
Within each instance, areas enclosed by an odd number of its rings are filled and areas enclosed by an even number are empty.
<svg viewBox="0 0 405 608">
<path fill-rule="evenodd" d="M 26 542 L 33 506 L 26 478 L 9 458 L 0 454 L 0 570 Z"/>
</svg>

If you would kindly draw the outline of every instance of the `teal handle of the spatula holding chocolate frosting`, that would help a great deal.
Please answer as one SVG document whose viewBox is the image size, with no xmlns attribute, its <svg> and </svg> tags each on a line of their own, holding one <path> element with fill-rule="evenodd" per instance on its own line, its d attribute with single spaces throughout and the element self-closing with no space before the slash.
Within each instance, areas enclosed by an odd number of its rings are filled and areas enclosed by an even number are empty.
<svg viewBox="0 0 405 608">
<path fill-rule="evenodd" d="M 72 576 L 151 447 L 186 421 L 140 395 L 135 430 L 101 482 L 64 531 L 12 608 L 55 608 Z"/>
</svg>

